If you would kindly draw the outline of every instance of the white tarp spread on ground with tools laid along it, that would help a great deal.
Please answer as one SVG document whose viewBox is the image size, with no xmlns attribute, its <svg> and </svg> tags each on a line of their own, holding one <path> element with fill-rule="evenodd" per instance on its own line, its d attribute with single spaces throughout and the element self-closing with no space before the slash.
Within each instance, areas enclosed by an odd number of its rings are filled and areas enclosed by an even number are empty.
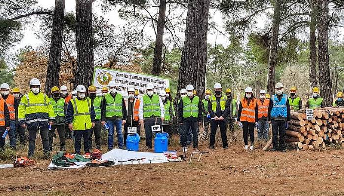
<svg viewBox="0 0 344 196">
<path fill-rule="evenodd" d="M 142 161 L 128 161 L 130 159 L 142 159 Z M 115 165 L 131 165 L 131 164 L 149 164 L 149 163 L 167 163 L 168 159 L 164 156 L 164 153 L 153 153 L 153 152 L 134 152 L 121 149 L 113 149 L 103 154 L 102 161 L 114 161 Z M 61 167 L 54 165 L 50 162 L 48 168 L 82 168 L 85 167 L 86 162 L 78 162 L 76 165 L 70 167 Z"/>
</svg>

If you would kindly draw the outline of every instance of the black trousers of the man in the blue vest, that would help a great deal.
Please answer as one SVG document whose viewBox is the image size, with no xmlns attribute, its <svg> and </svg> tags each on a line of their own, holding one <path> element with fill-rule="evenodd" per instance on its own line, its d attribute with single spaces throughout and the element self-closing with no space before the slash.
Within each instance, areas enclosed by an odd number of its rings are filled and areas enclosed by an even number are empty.
<svg viewBox="0 0 344 196">
<path fill-rule="evenodd" d="M 285 148 L 284 135 L 286 133 L 286 120 L 271 120 L 272 125 L 272 147 L 278 149 L 277 135 L 280 136 L 280 149 Z"/>
</svg>

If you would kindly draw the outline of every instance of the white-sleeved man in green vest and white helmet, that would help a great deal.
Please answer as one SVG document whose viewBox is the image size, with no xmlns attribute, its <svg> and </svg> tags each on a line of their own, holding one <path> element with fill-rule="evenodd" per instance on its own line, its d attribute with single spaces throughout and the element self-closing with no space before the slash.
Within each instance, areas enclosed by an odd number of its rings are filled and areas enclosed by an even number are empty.
<svg viewBox="0 0 344 196">
<path fill-rule="evenodd" d="M 146 93 L 140 100 L 139 119 L 140 123 L 144 123 L 144 132 L 146 134 L 146 150 L 152 149 L 152 126 L 162 126 L 165 120 L 165 108 L 161 98 L 154 94 L 154 85 L 148 83 Z"/>
</svg>

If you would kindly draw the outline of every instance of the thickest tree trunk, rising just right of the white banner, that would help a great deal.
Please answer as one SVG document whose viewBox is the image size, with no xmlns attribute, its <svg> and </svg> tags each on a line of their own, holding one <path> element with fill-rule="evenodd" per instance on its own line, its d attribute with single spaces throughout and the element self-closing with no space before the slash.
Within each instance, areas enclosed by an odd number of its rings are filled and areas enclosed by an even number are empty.
<svg viewBox="0 0 344 196">
<path fill-rule="evenodd" d="M 189 0 L 184 49 L 179 67 L 178 92 L 192 84 L 197 95 L 205 96 L 207 33 L 210 0 Z M 180 94 L 177 94 L 176 100 Z"/>
</svg>

